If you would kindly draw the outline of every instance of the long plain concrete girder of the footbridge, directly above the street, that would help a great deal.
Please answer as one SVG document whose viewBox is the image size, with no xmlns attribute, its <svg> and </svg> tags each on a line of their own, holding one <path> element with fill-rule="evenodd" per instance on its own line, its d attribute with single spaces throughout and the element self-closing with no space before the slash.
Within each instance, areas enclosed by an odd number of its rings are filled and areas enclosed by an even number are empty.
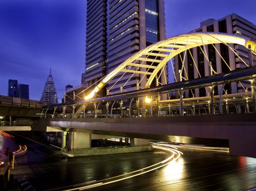
<svg viewBox="0 0 256 191">
<path fill-rule="evenodd" d="M 81 131 L 158 139 L 159 135 L 229 140 L 230 154 L 256 158 L 256 116 L 205 115 L 158 118 L 41 118 L 32 130 Z M 149 137 L 149 136 L 147 136 Z"/>
</svg>

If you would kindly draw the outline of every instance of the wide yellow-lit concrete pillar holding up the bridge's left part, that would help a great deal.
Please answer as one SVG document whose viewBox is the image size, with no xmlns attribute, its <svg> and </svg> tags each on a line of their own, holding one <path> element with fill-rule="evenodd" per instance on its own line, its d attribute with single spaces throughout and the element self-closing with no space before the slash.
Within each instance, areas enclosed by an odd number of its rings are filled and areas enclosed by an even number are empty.
<svg viewBox="0 0 256 191">
<path fill-rule="evenodd" d="M 91 134 L 90 133 L 69 133 L 69 147 L 70 150 L 91 147 Z"/>
</svg>

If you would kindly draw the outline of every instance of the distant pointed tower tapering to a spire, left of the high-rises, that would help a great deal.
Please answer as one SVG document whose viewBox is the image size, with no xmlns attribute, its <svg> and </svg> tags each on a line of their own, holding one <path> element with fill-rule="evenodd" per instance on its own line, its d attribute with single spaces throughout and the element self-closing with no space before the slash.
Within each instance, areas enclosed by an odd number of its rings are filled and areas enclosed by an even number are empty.
<svg viewBox="0 0 256 191">
<path fill-rule="evenodd" d="M 48 102 L 57 104 L 58 98 L 56 93 L 56 88 L 54 86 L 53 76 L 52 76 L 52 67 L 50 67 L 50 73 L 45 82 L 42 97 L 40 99 L 42 102 Z"/>
</svg>

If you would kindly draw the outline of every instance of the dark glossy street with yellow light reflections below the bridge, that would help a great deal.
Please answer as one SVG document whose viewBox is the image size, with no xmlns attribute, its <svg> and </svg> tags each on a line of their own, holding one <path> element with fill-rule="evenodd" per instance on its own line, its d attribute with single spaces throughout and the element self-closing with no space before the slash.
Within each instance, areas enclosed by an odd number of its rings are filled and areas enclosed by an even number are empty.
<svg viewBox="0 0 256 191">
<path fill-rule="evenodd" d="M 4 145 L 12 141 L 27 145 L 29 151 L 26 156 L 16 159 L 12 174 L 18 180 L 27 180 L 36 190 L 69 190 L 84 183 L 92 185 L 146 168 L 170 156 L 170 153 L 156 149 L 153 152 L 64 159 L 53 147 L 18 136 L 14 140 L 1 135 L 1 139 Z M 89 190 L 247 190 L 256 187 L 255 158 L 231 156 L 227 152 L 201 147 L 178 149 L 184 154 L 174 163 Z"/>
</svg>

